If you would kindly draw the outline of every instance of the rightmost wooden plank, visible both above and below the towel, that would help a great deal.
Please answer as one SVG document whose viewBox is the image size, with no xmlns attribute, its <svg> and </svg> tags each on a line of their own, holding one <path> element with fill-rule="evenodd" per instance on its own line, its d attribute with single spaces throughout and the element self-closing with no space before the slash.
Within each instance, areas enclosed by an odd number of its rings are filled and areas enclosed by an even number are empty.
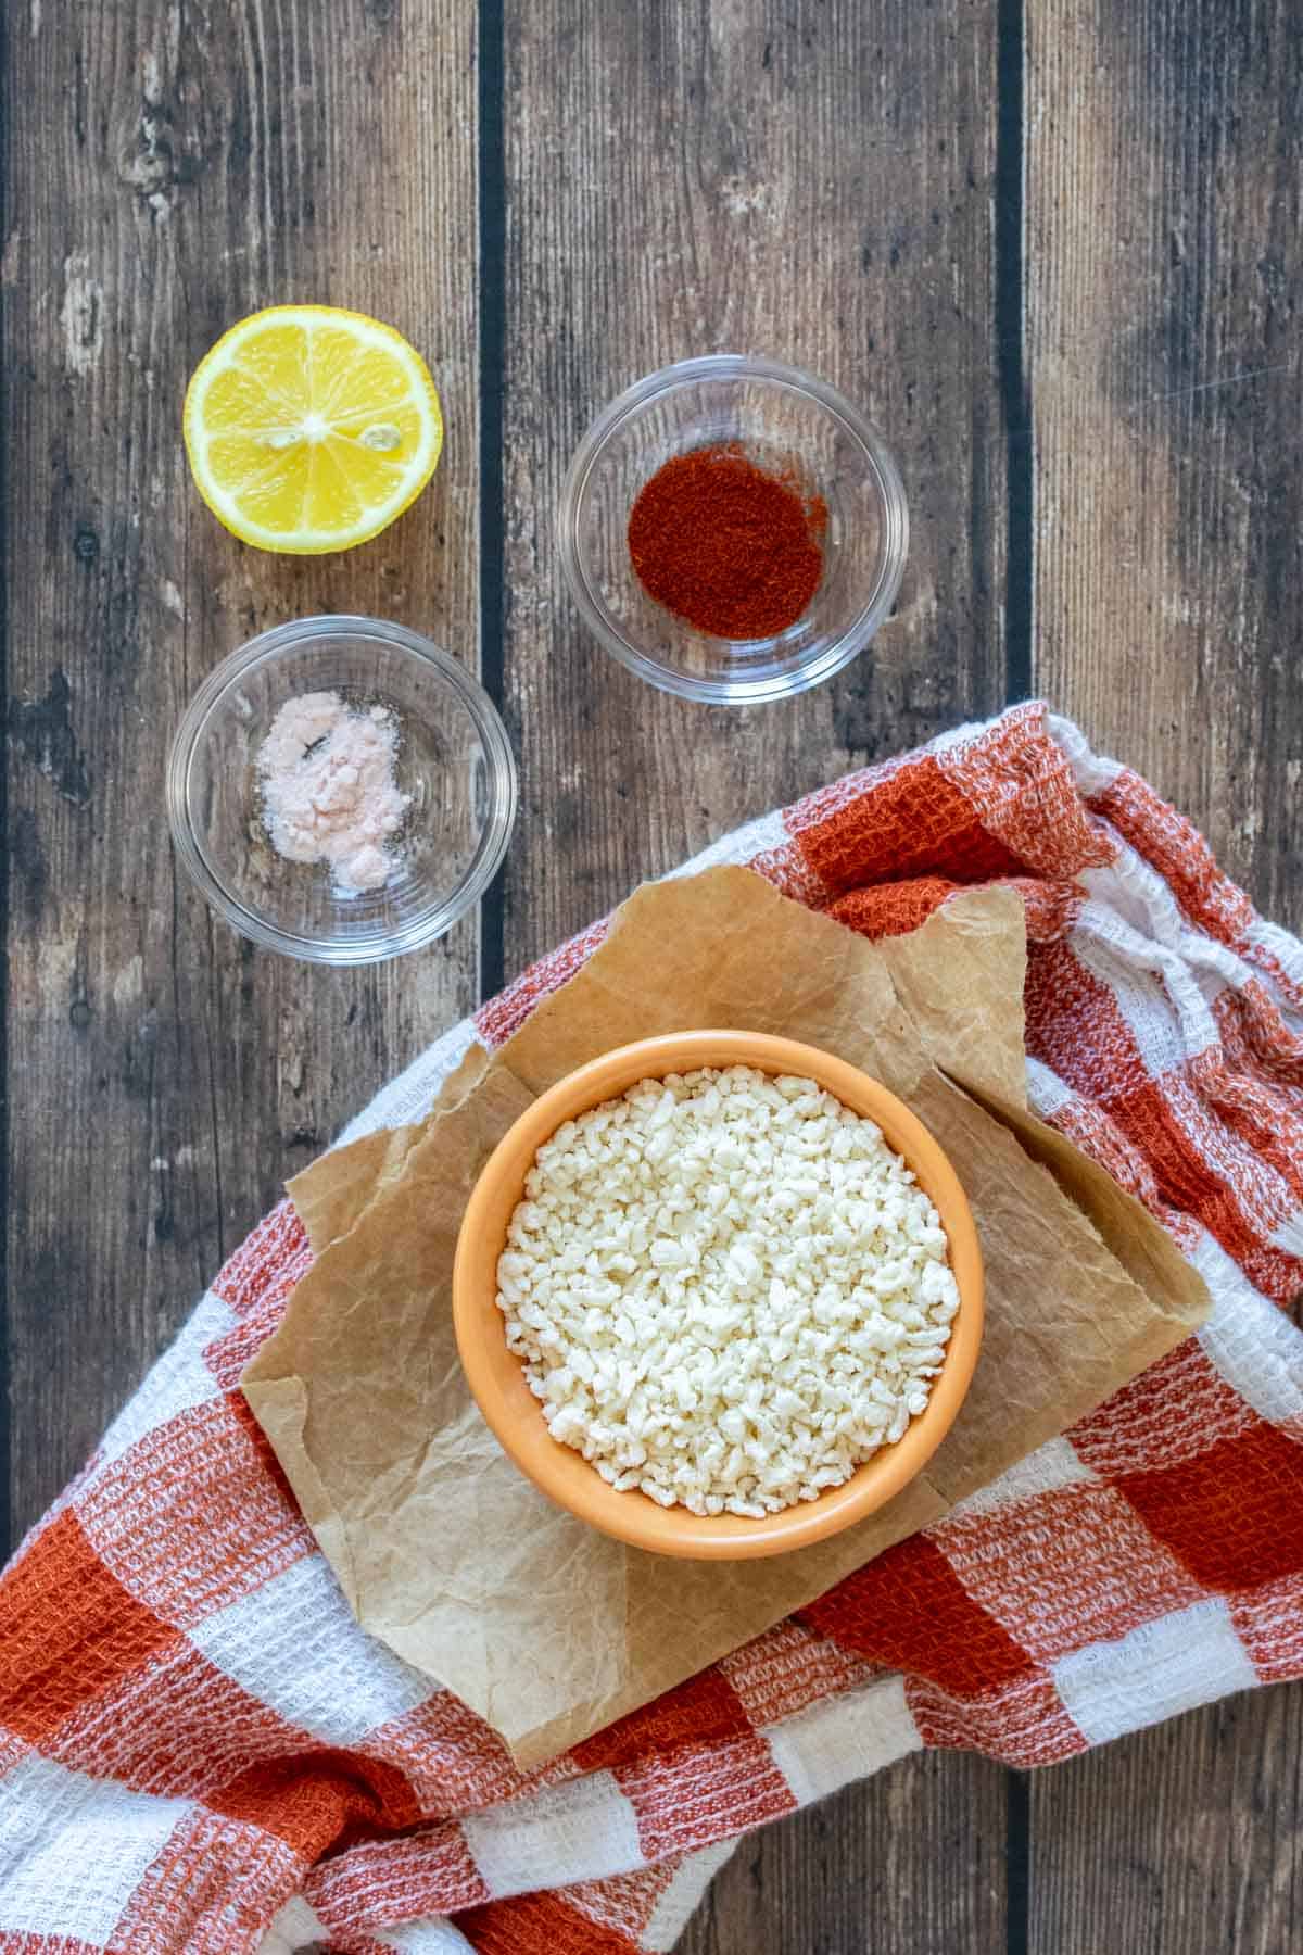
<svg viewBox="0 0 1303 1955">
<path fill-rule="evenodd" d="M 1030 8 L 1035 686 L 1303 919 L 1303 43 L 1289 0 Z M 1303 1937 L 1303 1689 L 1031 1779 L 1031 1955 Z"/>
</svg>

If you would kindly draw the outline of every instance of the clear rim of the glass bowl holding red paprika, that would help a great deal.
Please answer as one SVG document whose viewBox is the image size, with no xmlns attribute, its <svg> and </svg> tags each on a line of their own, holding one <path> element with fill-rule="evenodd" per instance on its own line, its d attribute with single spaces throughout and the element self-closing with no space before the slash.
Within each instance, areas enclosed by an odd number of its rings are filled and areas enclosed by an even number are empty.
<svg viewBox="0 0 1303 1955">
<path fill-rule="evenodd" d="M 578 512 L 582 506 L 588 477 L 602 457 L 608 442 L 639 409 L 658 395 L 674 393 L 680 387 L 701 379 L 768 379 L 789 387 L 817 401 L 846 434 L 858 442 L 871 475 L 883 510 L 883 553 L 877 569 L 877 583 L 867 602 L 852 624 L 819 657 L 791 673 L 766 674 L 758 678 L 695 678 L 688 673 L 674 673 L 660 665 L 623 631 L 615 628 L 606 604 L 598 598 L 584 571 L 584 555 L 578 545 Z M 654 373 L 633 381 L 623 393 L 602 409 L 588 426 L 584 438 L 570 457 L 570 465 L 561 483 L 557 504 L 557 542 L 561 549 L 561 571 L 580 618 L 598 639 L 627 671 L 645 678 L 660 692 L 672 692 L 684 700 L 697 700 L 713 706 L 758 706 L 766 700 L 785 700 L 813 686 L 824 684 L 840 673 L 875 637 L 883 620 L 891 612 L 904 561 L 908 557 L 908 499 L 897 459 L 877 426 L 852 401 L 828 381 L 787 366 L 781 360 L 768 360 L 758 354 L 697 354 L 692 360 L 676 360 L 672 366 L 656 368 Z"/>
</svg>

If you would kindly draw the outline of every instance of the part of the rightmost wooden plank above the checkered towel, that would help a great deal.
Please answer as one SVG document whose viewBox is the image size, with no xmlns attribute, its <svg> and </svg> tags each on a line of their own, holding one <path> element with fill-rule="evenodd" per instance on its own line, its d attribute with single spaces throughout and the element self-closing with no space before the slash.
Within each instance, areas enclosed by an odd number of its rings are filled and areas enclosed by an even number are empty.
<svg viewBox="0 0 1303 1955">
<path fill-rule="evenodd" d="M 1035 684 L 1303 917 L 1291 0 L 1030 10 Z"/>
</svg>

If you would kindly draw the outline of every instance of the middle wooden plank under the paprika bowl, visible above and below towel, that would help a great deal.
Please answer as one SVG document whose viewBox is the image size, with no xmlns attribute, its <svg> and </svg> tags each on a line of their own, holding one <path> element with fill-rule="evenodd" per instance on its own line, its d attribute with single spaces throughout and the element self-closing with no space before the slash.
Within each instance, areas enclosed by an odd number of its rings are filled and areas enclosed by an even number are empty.
<svg viewBox="0 0 1303 1955">
<path fill-rule="evenodd" d="M 985 4 L 508 10 L 508 972 L 738 821 L 1000 704 L 994 88 Z M 897 618 L 783 706 L 652 692 L 586 637 L 557 563 L 588 420 L 721 348 L 862 401 L 910 497 Z M 981 1760 L 906 1761 L 772 1828 L 686 1955 L 852 1955 L 869 1920 L 875 1955 L 1002 1945 L 1002 1783 Z M 959 1892 L 924 1877 L 951 1853 Z"/>
</svg>

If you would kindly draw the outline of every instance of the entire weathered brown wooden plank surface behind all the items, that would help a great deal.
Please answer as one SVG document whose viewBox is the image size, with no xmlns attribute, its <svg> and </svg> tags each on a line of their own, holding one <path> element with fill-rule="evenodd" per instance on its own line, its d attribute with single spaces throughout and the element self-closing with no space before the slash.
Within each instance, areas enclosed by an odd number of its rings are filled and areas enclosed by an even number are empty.
<svg viewBox="0 0 1303 1955">
<path fill-rule="evenodd" d="M 21 0 L 4 65 L 10 1539 L 375 1083 L 723 829 L 1030 688 L 1299 903 L 1291 0 Z M 180 399 L 324 299 L 428 354 L 432 491 L 338 561 L 199 508 Z M 736 346 L 863 401 L 906 477 L 897 616 L 731 712 L 582 637 L 565 461 L 629 379 Z M 483 424 L 481 424 L 483 411 Z M 166 739 L 281 618 L 432 631 L 498 694 L 522 819 L 483 917 L 336 974 L 172 864 Z M 690 1955 L 1278 1955 L 1303 1691 L 1035 1779 L 908 1760 L 744 1846 Z"/>
</svg>

